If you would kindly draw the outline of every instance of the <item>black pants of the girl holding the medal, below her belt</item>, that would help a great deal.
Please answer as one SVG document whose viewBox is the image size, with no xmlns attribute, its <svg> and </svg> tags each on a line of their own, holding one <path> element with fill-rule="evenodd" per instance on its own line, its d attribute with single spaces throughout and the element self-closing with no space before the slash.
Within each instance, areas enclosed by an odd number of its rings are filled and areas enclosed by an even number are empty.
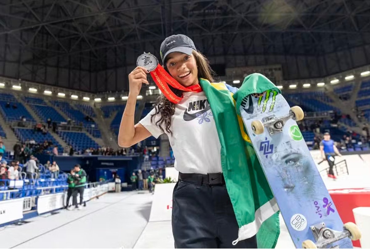
<svg viewBox="0 0 370 249">
<path fill-rule="evenodd" d="M 175 248 L 257 248 L 256 236 L 233 246 L 238 231 L 225 185 L 177 182 L 172 196 Z"/>
</svg>

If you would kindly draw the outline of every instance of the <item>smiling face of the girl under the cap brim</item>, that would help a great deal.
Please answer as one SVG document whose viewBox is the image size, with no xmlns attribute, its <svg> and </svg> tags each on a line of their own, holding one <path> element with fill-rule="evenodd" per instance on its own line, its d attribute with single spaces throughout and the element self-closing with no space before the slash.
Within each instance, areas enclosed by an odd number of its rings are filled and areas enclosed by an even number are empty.
<svg viewBox="0 0 370 249">
<path fill-rule="evenodd" d="M 173 52 L 167 55 L 166 68 L 169 74 L 185 87 L 199 84 L 198 68 L 192 54 Z"/>
</svg>

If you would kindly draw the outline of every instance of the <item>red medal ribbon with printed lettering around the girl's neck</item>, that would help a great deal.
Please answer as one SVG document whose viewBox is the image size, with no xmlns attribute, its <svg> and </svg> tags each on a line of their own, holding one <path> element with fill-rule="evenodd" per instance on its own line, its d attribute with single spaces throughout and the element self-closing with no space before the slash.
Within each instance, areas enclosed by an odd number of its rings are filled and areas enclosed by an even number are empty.
<svg viewBox="0 0 370 249">
<path fill-rule="evenodd" d="M 165 95 L 165 97 L 171 101 L 172 103 L 178 104 L 183 98 L 183 96 L 179 97 L 177 96 L 169 87 L 168 85 L 171 85 L 171 87 L 174 87 L 178 90 L 184 91 L 184 92 L 201 92 L 202 88 L 198 85 L 191 85 L 190 87 L 184 87 L 180 83 L 178 83 L 167 71 L 158 64 L 157 68 L 155 68 L 154 71 L 150 72 L 150 75 L 152 76 L 155 84 L 157 85 L 158 89 L 162 91 L 162 93 Z"/>
</svg>

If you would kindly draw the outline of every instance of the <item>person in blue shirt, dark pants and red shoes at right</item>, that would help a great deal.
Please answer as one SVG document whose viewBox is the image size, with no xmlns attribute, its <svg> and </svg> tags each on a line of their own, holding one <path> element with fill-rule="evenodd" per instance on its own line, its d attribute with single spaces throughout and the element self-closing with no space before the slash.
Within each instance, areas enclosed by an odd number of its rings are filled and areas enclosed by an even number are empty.
<svg viewBox="0 0 370 249">
<path fill-rule="evenodd" d="M 324 133 L 324 139 L 320 142 L 320 151 L 323 160 L 327 160 L 327 163 L 329 164 L 329 173 L 327 176 L 336 179 L 337 177 L 334 175 L 333 171 L 335 161 L 334 157 L 335 155 L 342 157 L 342 154 L 339 153 L 337 147 L 334 145 L 334 141 L 330 139 L 329 132 Z"/>
</svg>

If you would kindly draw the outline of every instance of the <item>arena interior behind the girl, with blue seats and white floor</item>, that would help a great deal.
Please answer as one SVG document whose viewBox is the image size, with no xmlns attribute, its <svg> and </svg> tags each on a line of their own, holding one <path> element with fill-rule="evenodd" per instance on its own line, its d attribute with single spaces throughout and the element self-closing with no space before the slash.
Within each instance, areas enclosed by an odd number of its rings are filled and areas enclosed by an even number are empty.
<svg viewBox="0 0 370 249">
<path fill-rule="evenodd" d="M 260 73 L 303 109 L 300 131 L 340 216 L 363 233 L 353 245 L 369 248 L 365 0 L 1 0 L 1 164 L 8 170 L 19 161 L 17 179 L 0 180 L 1 248 L 174 248 L 174 183 L 163 182 L 177 180 L 178 172 L 168 137 L 117 144 L 128 74 L 142 53 L 160 58 L 161 42 L 172 34 L 194 40 L 218 82 L 240 87 Z M 135 122 L 161 94 L 149 82 Z M 336 181 L 319 152 L 325 132 L 343 155 Z M 38 169 L 28 172 L 31 157 Z M 85 206 L 68 211 L 75 164 L 87 173 Z M 132 189 L 139 169 L 155 172 L 154 194 Z M 280 223 L 277 248 L 294 248 Z"/>
</svg>

